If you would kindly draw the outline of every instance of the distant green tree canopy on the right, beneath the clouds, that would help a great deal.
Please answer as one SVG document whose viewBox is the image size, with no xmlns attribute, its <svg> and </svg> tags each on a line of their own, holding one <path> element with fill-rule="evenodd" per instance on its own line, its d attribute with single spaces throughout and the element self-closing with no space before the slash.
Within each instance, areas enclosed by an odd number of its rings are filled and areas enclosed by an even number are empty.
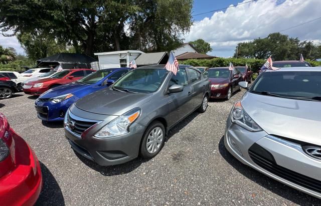
<svg viewBox="0 0 321 206">
<path fill-rule="evenodd" d="M 272 33 L 263 39 L 242 42 L 237 47 L 234 57 L 236 52 L 238 57 L 267 59 L 272 56 L 274 61 L 299 60 L 300 54 L 306 59 L 321 56 L 321 46 L 316 46 L 312 41 L 301 42 L 298 38 L 289 38 L 281 33 Z"/>
</svg>

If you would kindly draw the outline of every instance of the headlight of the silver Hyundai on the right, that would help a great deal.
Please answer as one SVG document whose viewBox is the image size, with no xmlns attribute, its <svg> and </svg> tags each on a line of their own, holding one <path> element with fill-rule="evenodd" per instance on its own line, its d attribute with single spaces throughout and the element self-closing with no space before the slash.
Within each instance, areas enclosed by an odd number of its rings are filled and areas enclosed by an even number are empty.
<svg viewBox="0 0 321 206">
<path fill-rule="evenodd" d="M 231 112 L 231 120 L 233 123 L 238 124 L 252 132 L 258 132 L 262 130 L 262 128 L 245 112 L 241 102 L 235 103 Z"/>
</svg>

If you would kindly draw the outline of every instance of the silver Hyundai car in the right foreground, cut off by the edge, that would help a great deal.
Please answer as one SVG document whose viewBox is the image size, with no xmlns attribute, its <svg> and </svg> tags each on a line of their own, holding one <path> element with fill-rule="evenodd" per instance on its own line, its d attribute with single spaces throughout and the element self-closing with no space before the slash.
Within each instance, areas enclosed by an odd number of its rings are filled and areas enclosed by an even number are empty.
<svg viewBox="0 0 321 206">
<path fill-rule="evenodd" d="M 321 198 L 321 70 L 262 72 L 235 103 L 224 143 L 242 163 Z"/>
</svg>

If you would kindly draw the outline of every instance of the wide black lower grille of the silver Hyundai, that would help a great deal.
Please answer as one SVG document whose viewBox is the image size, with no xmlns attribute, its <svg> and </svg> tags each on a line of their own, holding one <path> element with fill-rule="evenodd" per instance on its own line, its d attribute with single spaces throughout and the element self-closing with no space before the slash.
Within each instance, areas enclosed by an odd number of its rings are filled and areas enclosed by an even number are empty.
<svg viewBox="0 0 321 206">
<path fill-rule="evenodd" d="M 321 193 L 321 181 L 277 165 L 273 160 L 258 154 L 254 150 L 251 150 L 251 148 L 249 149 L 248 153 L 255 164 L 271 172 L 272 174 L 299 186 Z"/>
</svg>

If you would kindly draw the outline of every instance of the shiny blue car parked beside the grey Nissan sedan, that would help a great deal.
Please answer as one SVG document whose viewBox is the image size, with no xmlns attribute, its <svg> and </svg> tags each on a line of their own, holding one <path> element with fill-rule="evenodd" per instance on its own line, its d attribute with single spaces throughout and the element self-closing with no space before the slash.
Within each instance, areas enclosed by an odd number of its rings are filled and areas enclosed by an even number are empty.
<svg viewBox="0 0 321 206">
<path fill-rule="evenodd" d="M 71 84 L 48 90 L 35 102 L 38 118 L 44 121 L 63 121 L 66 111 L 75 101 L 106 88 L 129 71 L 130 68 L 98 70 Z"/>
</svg>

